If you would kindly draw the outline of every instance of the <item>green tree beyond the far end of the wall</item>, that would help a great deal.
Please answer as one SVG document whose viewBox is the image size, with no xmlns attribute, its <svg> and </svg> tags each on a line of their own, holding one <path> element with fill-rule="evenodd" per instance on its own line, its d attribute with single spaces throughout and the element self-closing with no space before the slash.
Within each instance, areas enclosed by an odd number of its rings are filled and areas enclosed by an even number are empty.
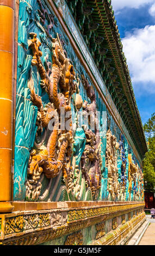
<svg viewBox="0 0 155 256">
<path fill-rule="evenodd" d="M 148 152 L 144 159 L 144 181 L 147 188 L 153 190 L 155 187 L 155 113 L 144 124 L 144 132 L 148 143 Z"/>
</svg>

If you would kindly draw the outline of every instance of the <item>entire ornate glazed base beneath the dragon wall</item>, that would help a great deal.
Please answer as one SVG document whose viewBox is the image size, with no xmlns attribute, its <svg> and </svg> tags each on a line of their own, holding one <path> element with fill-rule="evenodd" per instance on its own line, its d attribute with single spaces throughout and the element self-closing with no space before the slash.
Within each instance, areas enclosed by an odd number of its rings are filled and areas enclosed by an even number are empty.
<svg viewBox="0 0 155 256">
<path fill-rule="evenodd" d="M 1 214 L 1 244 L 124 245 L 145 221 L 144 202 L 71 203 Z"/>
</svg>

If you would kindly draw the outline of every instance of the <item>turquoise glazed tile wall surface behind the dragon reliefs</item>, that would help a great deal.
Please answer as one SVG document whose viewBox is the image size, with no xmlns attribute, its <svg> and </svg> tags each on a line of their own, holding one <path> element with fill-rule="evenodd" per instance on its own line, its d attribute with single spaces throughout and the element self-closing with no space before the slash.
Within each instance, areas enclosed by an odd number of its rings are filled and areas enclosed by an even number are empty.
<svg viewBox="0 0 155 256">
<path fill-rule="evenodd" d="M 119 115 L 117 114 L 117 109 L 114 107 L 114 103 L 110 98 L 106 86 L 103 84 L 98 70 L 95 69 L 95 64 L 89 59 L 88 49 L 84 48 L 83 39 L 76 32 L 76 27 L 73 28 L 73 23 L 70 20 L 70 14 L 67 10 L 66 5 L 62 8 L 65 14 L 65 21 L 67 25 L 71 26 L 71 32 L 74 32 L 75 40 L 78 43 L 78 47 L 85 52 L 85 59 L 88 61 L 90 70 L 96 76 L 96 81 L 98 86 L 101 87 L 103 94 L 106 96 L 111 109 L 115 112 L 117 120 L 120 121 L 122 129 L 126 132 L 127 130 L 122 123 Z M 48 13 L 48 15 L 47 15 Z M 41 174 L 39 182 L 41 183 L 41 189 L 39 197 L 29 198 L 26 196 L 27 193 L 27 180 L 28 177 L 28 165 L 30 159 L 30 152 L 32 152 L 34 143 L 36 141 L 35 135 L 38 130 L 36 125 L 36 120 L 38 118 L 38 107 L 36 107 L 31 100 L 31 93 L 29 89 L 29 81 L 33 80 L 35 93 L 41 97 L 43 106 L 45 107 L 49 103 L 49 96 L 44 88 L 41 87 L 41 77 L 36 65 L 32 65 L 32 50 L 28 45 L 28 40 L 31 39 L 30 33 L 35 33 L 38 40 L 41 42 L 40 51 L 42 56 L 40 57 L 44 69 L 47 70 L 47 58 L 48 62 L 52 63 L 53 54 L 53 42 L 52 38 L 58 38 L 63 46 L 63 51 L 67 58 L 69 58 L 70 63 L 73 65 L 75 70 L 75 81 L 79 83 L 79 95 L 82 100 L 86 100 L 89 104 L 91 103 L 90 98 L 83 86 L 81 76 L 88 80 L 90 87 L 95 92 L 96 97 L 96 110 L 106 113 L 104 118 L 100 118 L 100 139 L 101 139 L 101 186 L 97 188 L 95 196 L 92 194 L 92 189 L 86 184 L 85 176 L 81 171 L 81 156 L 85 149 L 85 143 L 83 138 L 85 138 L 84 130 L 76 130 L 75 132 L 75 142 L 73 145 L 73 154 L 76 159 L 76 165 L 79 166 L 78 173 L 73 173 L 72 184 L 78 187 L 78 191 L 75 188 L 69 192 L 66 182 L 63 179 L 63 174 L 60 172 L 55 178 L 49 179 L 46 177 L 44 172 Z M 83 46 L 81 45 L 83 44 Z M 58 84 L 59 90 L 60 86 Z M 76 94 L 75 94 L 76 95 Z M 71 109 L 72 109 L 72 123 L 77 121 L 77 111 L 75 110 L 75 96 L 71 99 Z M 82 111 L 82 107 L 79 112 Z M 78 112 L 78 113 L 79 113 Z M 84 124 L 84 120 L 83 120 Z M 119 149 L 116 150 L 117 156 L 117 168 L 118 168 L 118 181 L 121 184 L 122 180 L 125 181 L 125 190 L 120 193 L 120 196 L 115 196 L 112 198 L 109 193 L 109 176 L 108 167 L 106 167 L 106 147 L 107 147 L 107 131 L 110 130 L 111 133 L 116 137 L 119 143 Z M 41 137 L 45 130 L 42 131 Z M 132 155 L 133 164 L 137 164 L 138 169 L 141 169 L 139 161 L 135 158 L 133 149 L 129 145 L 131 138 L 129 138 L 129 143 L 123 135 L 119 127 L 115 124 L 115 121 L 109 114 L 103 100 L 98 94 L 97 89 L 92 83 L 88 73 L 84 69 L 81 61 L 77 57 L 69 38 L 63 31 L 59 20 L 53 13 L 52 8 L 49 6 L 47 1 L 19 1 L 19 16 L 18 16 L 18 57 L 17 57 L 17 83 L 16 83 L 16 125 L 15 125 L 15 166 L 14 166 L 14 200 L 29 200 L 29 201 L 65 201 L 65 200 L 143 200 L 143 188 L 142 182 L 138 182 L 138 177 L 135 177 L 136 181 L 132 181 L 131 190 L 128 191 L 129 181 L 128 181 L 128 153 Z M 45 145 L 45 144 L 44 144 Z M 78 146 L 77 146 L 78 145 Z M 122 148 L 121 148 L 122 147 Z M 134 145 L 133 145 L 134 147 Z M 79 150 L 77 150 L 79 149 Z M 122 165 L 125 163 L 125 172 L 122 171 Z M 77 179 L 78 176 L 78 179 Z M 123 177 L 122 177 L 123 176 Z"/>
</svg>

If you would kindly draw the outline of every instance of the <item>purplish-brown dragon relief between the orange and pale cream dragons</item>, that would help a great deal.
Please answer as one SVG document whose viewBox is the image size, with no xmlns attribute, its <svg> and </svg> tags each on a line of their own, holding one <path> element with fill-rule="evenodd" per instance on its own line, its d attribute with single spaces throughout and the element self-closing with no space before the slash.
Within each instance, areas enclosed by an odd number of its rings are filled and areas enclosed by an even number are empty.
<svg viewBox="0 0 155 256">
<path fill-rule="evenodd" d="M 98 119 L 96 115 L 96 96 L 84 75 L 82 75 L 82 82 L 91 102 L 88 104 L 87 101 L 84 101 L 83 112 L 88 114 L 89 125 L 91 124 L 91 121 L 94 123 L 95 132 L 92 132 L 90 129 L 85 131 L 86 144 L 81 157 L 81 167 L 86 186 L 91 187 L 92 196 L 97 199 L 98 191 L 101 187 L 102 161 L 100 131 L 98 129 Z"/>
</svg>

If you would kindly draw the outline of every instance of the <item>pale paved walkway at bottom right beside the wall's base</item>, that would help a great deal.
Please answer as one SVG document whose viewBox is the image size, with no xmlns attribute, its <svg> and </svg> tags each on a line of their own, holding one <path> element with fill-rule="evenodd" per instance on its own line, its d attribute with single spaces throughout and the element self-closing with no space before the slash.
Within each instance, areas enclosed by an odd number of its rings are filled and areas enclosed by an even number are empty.
<svg viewBox="0 0 155 256">
<path fill-rule="evenodd" d="M 139 245 L 155 245 L 155 219 L 151 219 L 150 215 L 146 215 L 146 220 L 150 221 L 150 225 L 148 225 Z"/>
</svg>

